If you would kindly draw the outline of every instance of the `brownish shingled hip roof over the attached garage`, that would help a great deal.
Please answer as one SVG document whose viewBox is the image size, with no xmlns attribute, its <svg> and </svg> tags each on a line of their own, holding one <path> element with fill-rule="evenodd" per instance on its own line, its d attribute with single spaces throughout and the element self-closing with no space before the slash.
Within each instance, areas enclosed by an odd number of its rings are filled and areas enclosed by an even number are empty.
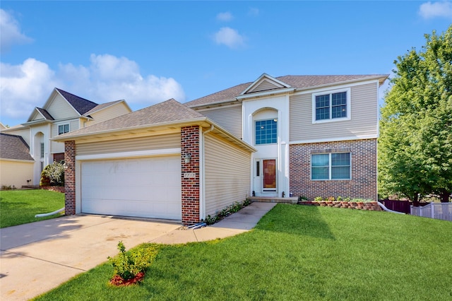
<svg viewBox="0 0 452 301">
<path fill-rule="evenodd" d="M 182 105 L 182 103 L 177 100 L 170 99 L 129 114 L 124 114 L 119 117 L 106 120 L 105 122 L 93 124 L 92 126 L 87 126 L 83 129 L 78 129 L 76 131 L 60 135 L 58 136 L 58 140 L 70 136 L 94 134 L 103 131 L 129 129 L 170 122 L 184 122 L 185 120 L 189 121 L 197 118 L 206 117 L 203 114 Z"/>
</svg>

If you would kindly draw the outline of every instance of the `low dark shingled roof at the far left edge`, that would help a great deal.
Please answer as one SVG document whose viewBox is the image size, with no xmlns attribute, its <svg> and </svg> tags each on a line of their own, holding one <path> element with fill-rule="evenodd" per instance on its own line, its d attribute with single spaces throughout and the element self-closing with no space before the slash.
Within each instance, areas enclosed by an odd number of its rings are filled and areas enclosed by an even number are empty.
<svg viewBox="0 0 452 301">
<path fill-rule="evenodd" d="M 30 147 L 21 136 L 0 133 L 0 158 L 33 160 Z"/>
</svg>

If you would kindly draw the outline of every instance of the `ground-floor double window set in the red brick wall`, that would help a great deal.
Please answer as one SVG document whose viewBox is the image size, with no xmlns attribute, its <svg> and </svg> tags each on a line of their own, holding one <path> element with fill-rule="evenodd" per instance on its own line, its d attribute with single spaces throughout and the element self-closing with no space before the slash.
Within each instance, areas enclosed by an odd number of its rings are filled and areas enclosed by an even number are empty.
<svg viewBox="0 0 452 301">
<path fill-rule="evenodd" d="M 350 153 L 311 155 L 311 179 L 351 179 Z"/>
</svg>

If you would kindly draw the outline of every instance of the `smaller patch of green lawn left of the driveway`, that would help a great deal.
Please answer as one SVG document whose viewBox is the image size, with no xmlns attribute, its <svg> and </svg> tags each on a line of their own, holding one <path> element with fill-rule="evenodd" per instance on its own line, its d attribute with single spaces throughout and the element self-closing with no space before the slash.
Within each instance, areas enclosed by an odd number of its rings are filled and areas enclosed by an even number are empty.
<svg viewBox="0 0 452 301">
<path fill-rule="evenodd" d="M 64 194 L 47 190 L 0 191 L 0 228 L 32 223 L 61 216 L 61 213 L 45 218 L 36 214 L 49 213 L 64 207 Z"/>
</svg>

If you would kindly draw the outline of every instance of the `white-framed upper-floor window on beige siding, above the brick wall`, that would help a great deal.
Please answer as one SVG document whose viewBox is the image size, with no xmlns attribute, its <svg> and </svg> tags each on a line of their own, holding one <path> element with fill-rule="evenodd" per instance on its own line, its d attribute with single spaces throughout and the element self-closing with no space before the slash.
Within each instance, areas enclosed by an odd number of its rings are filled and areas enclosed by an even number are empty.
<svg viewBox="0 0 452 301">
<path fill-rule="evenodd" d="M 312 94 L 312 123 L 350 119 L 350 88 Z"/>
</svg>

